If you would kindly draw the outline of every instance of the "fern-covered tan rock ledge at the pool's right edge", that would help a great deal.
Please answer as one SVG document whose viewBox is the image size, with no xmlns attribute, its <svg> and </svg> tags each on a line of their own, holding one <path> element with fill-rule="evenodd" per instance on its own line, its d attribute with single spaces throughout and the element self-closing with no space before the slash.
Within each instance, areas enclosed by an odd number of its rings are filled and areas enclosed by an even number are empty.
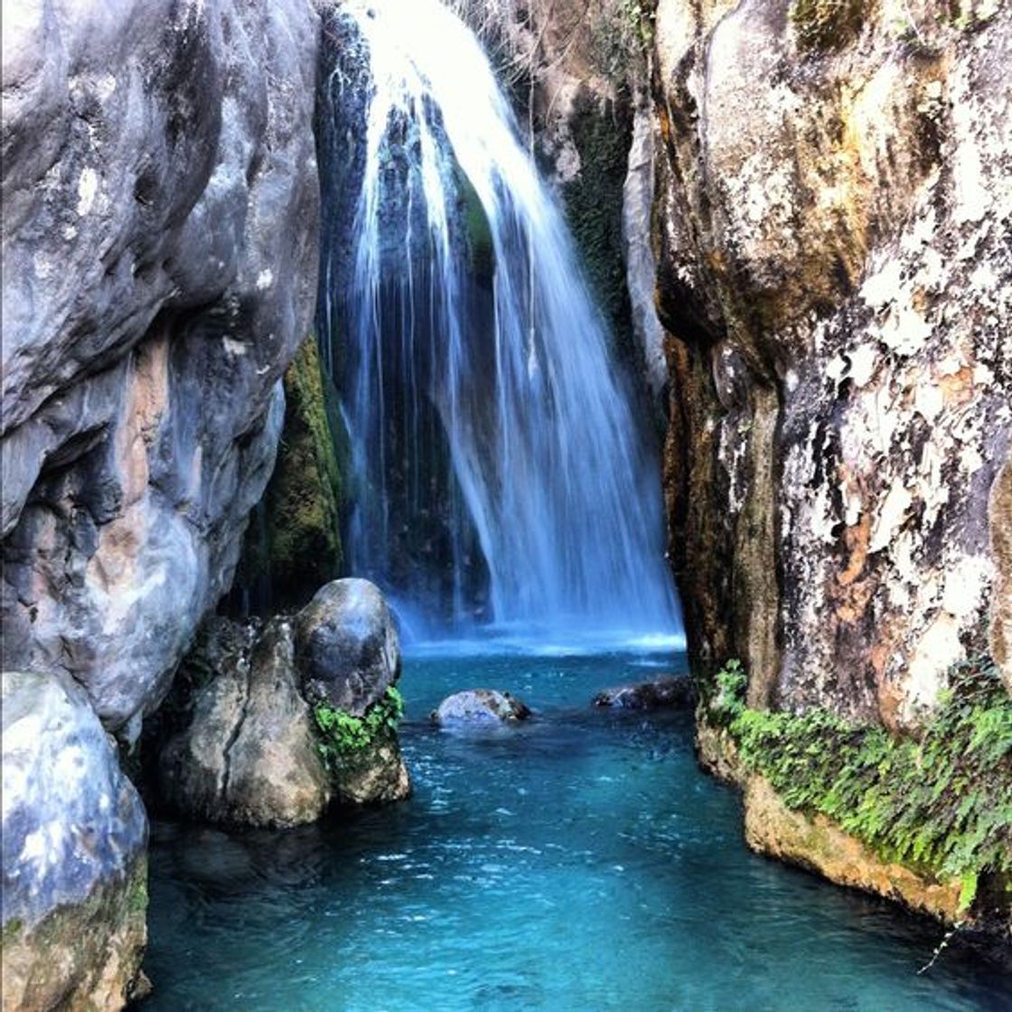
<svg viewBox="0 0 1012 1012">
<path fill-rule="evenodd" d="M 951 672 L 916 739 L 752 709 L 746 683 L 733 661 L 703 685 L 696 747 L 743 788 L 749 846 L 1012 945 L 1012 698 L 990 661 Z"/>
</svg>

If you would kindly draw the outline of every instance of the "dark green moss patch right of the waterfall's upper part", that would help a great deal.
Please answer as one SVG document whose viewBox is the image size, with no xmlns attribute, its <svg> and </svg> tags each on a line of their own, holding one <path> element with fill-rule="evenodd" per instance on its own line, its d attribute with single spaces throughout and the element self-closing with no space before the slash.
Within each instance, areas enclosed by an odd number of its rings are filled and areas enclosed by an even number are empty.
<svg viewBox="0 0 1012 1012">
<path fill-rule="evenodd" d="M 600 107 L 588 95 L 574 107 L 570 129 L 580 172 L 563 187 L 570 231 L 597 305 L 622 350 L 631 344 L 631 317 L 622 253 L 622 188 L 632 138 L 627 103 Z"/>
</svg>

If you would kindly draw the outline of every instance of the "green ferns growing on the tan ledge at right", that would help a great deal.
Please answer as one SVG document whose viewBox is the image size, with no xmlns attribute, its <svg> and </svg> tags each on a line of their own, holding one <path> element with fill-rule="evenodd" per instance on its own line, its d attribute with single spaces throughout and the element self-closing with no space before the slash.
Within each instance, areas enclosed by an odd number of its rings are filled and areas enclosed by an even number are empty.
<svg viewBox="0 0 1012 1012">
<path fill-rule="evenodd" d="M 964 908 L 983 876 L 1012 877 L 1012 699 L 993 663 L 951 672 L 919 740 L 825 709 L 752 709 L 746 682 L 729 662 L 707 712 L 788 808 L 829 817 L 886 860 L 959 879 Z"/>
</svg>

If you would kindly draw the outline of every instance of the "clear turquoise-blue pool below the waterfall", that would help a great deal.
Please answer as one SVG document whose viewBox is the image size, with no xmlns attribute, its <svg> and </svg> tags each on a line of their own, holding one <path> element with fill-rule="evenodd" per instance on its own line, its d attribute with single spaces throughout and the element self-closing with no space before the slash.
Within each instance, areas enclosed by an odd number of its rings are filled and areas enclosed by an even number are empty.
<svg viewBox="0 0 1012 1012">
<path fill-rule="evenodd" d="M 144 1012 L 968 1010 L 1012 979 L 937 927 L 751 854 L 688 714 L 594 710 L 670 658 L 417 656 L 402 805 L 287 833 L 153 831 Z M 451 691 L 515 692 L 516 729 L 441 732 Z"/>
</svg>

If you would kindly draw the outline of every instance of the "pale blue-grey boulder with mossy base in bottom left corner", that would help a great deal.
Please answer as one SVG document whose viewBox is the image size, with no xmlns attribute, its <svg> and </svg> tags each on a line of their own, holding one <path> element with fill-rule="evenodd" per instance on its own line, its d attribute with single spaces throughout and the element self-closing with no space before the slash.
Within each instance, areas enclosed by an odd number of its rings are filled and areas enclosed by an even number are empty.
<svg viewBox="0 0 1012 1012">
<path fill-rule="evenodd" d="M 118 1009 L 147 939 L 148 820 L 84 690 L 3 674 L 3 1009 Z"/>
</svg>

